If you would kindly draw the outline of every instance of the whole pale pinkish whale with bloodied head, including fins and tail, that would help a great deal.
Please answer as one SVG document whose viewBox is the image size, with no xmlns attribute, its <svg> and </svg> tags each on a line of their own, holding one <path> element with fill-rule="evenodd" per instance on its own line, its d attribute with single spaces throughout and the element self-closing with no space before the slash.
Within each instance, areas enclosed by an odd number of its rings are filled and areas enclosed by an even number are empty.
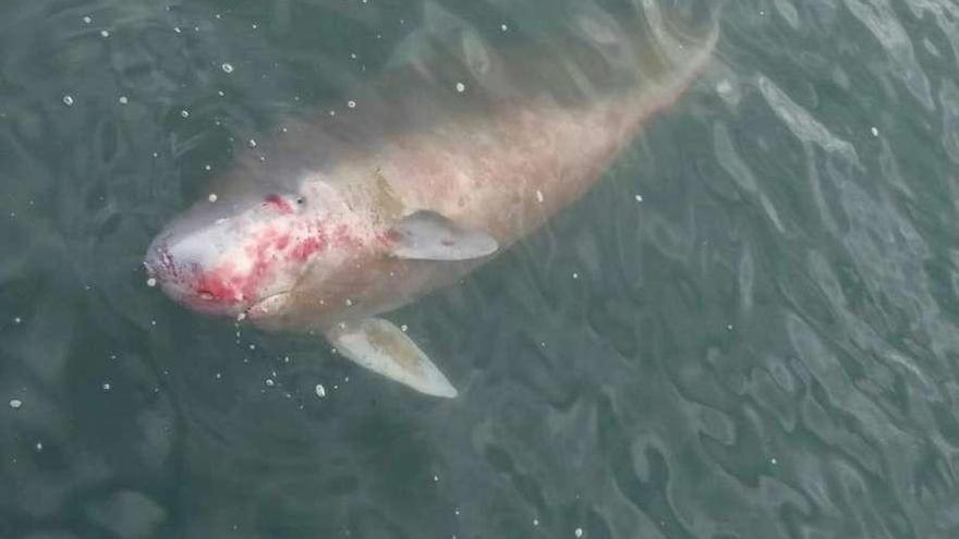
<svg viewBox="0 0 959 539">
<path fill-rule="evenodd" d="M 464 279 L 583 197 L 700 77 L 715 27 L 672 32 L 645 3 L 639 29 L 573 17 L 600 51 L 578 49 L 579 66 L 550 68 L 558 57 L 543 51 L 494 56 L 461 39 L 466 84 L 421 54 L 336 113 L 280 122 L 244 148 L 215 194 L 156 235 L 148 282 L 194 311 L 323 335 L 366 369 L 457 396 L 388 315 Z M 560 91 L 557 79 L 576 89 Z"/>
</svg>

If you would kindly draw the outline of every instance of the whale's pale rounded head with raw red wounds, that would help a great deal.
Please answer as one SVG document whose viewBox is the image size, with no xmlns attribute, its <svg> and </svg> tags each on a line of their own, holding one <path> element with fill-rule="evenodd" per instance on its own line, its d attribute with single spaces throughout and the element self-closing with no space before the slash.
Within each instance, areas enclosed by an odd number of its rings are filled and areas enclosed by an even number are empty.
<svg viewBox="0 0 959 539">
<path fill-rule="evenodd" d="M 199 313 L 276 310 L 329 247 L 320 205 L 299 193 L 199 203 L 149 246 L 148 282 Z"/>
</svg>

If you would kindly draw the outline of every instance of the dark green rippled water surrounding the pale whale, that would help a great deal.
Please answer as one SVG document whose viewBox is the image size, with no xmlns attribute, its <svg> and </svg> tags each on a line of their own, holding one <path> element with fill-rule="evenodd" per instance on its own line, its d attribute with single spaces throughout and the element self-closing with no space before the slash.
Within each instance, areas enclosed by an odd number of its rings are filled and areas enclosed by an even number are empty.
<svg viewBox="0 0 959 539">
<path fill-rule="evenodd" d="M 555 3 L 444 5 L 522 44 Z M 392 316 L 454 401 L 147 286 L 230 149 L 347 110 L 421 13 L 0 8 L 0 537 L 959 534 L 946 0 L 727 2 L 596 189 Z"/>
</svg>

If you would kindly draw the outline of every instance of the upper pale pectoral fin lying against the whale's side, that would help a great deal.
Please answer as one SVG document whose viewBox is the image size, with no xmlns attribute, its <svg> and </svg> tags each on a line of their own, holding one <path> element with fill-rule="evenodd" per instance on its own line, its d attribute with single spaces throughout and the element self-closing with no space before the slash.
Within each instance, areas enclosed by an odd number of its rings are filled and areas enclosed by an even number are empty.
<svg viewBox="0 0 959 539">
<path fill-rule="evenodd" d="M 435 211 L 416 211 L 393 228 L 392 255 L 412 260 L 472 260 L 499 248 L 496 238 L 459 226 Z"/>
</svg>

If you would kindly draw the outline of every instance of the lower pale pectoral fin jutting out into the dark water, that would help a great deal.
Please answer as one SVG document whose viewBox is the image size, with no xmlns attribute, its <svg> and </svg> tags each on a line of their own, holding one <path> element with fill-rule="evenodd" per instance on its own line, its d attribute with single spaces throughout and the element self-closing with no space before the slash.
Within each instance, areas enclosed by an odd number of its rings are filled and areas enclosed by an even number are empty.
<svg viewBox="0 0 959 539">
<path fill-rule="evenodd" d="M 340 323 L 325 331 L 340 354 L 362 367 L 427 395 L 457 396 L 457 390 L 405 333 L 381 318 Z"/>
</svg>

